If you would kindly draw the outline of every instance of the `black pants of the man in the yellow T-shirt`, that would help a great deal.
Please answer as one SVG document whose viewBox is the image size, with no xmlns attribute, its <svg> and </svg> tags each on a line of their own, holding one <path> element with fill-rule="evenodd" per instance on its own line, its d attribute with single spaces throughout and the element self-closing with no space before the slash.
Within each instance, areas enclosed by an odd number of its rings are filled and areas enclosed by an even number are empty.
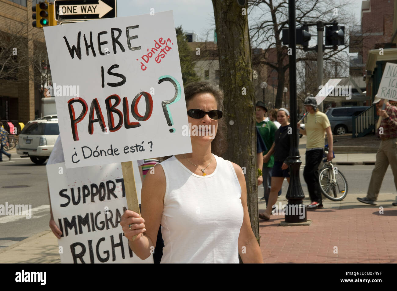
<svg viewBox="0 0 397 291">
<path fill-rule="evenodd" d="M 312 202 L 322 202 L 322 192 L 320 189 L 320 181 L 318 179 L 318 166 L 320 166 L 324 150 L 306 151 L 306 166 L 304 166 L 303 177 L 307 184 L 310 199 Z"/>
</svg>

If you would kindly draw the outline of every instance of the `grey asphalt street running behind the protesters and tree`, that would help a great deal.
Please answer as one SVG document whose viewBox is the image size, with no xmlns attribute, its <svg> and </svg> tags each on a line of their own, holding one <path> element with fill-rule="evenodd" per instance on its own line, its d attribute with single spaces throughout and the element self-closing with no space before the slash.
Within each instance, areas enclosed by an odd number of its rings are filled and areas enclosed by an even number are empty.
<svg viewBox="0 0 397 291">
<path fill-rule="evenodd" d="M 20 158 L 13 154 L 13 158 L 8 162 L 0 163 L 0 204 L 30 204 L 32 217 L 26 219 L 25 216 L 0 216 L 0 249 L 8 247 L 13 243 L 21 241 L 41 231 L 49 229 L 50 218 L 49 202 L 47 194 L 47 176 L 44 165 L 33 164 L 29 158 Z M 364 197 L 374 166 L 339 166 L 339 170 L 345 174 L 349 184 L 348 195 Z M 302 176 L 301 183 L 305 196 L 308 197 L 307 187 Z M 15 188 L 6 188 L 6 187 Z M 283 183 L 283 195 L 287 193 L 288 183 Z M 389 167 L 382 188 L 382 193 L 396 193 L 393 182 L 393 174 Z M 263 187 L 258 187 L 258 197 L 263 196 Z M 326 207 L 326 204 L 325 204 Z"/>
</svg>

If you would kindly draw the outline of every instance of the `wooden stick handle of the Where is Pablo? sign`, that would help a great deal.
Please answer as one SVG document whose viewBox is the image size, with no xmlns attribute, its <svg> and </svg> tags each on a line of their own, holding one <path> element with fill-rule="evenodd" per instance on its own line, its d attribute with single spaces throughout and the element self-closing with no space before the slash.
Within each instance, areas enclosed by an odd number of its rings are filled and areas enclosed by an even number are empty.
<svg viewBox="0 0 397 291">
<path fill-rule="evenodd" d="M 123 171 L 125 197 L 127 198 L 128 210 L 132 210 L 141 216 L 132 162 L 121 162 L 121 169 Z M 134 235 L 132 240 L 134 241 L 136 238 L 137 235 Z"/>
</svg>

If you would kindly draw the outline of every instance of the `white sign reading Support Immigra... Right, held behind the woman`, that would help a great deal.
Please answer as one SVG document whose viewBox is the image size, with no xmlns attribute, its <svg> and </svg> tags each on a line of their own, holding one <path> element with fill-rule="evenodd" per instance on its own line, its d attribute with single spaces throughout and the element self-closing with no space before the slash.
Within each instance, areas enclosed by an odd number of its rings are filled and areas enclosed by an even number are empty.
<svg viewBox="0 0 397 291">
<path fill-rule="evenodd" d="M 46 166 L 62 263 L 152 263 L 129 248 L 120 226 L 127 209 L 121 164 L 75 169 Z"/>
</svg>

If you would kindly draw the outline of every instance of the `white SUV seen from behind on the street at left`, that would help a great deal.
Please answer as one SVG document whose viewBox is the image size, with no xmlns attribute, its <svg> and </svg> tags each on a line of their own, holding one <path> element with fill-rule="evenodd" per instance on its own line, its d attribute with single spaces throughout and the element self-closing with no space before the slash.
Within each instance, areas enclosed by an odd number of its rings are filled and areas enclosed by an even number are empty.
<svg viewBox="0 0 397 291">
<path fill-rule="evenodd" d="M 43 164 L 52 152 L 59 135 L 57 116 L 44 116 L 29 121 L 19 134 L 17 154 L 29 155 L 35 164 Z"/>
</svg>

